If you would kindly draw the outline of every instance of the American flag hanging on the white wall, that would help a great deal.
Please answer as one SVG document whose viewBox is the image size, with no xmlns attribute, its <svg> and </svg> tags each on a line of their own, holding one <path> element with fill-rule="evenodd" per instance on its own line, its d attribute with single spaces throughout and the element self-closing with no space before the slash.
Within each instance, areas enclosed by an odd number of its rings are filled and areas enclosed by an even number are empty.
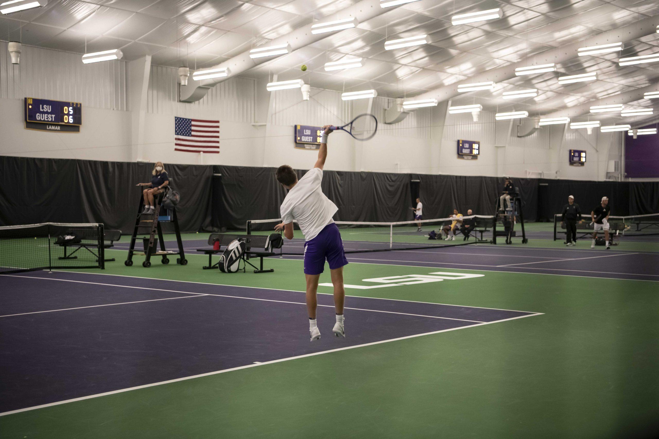
<svg viewBox="0 0 659 439">
<path fill-rule="evenodd" d="M 174 117 L 174 151 L 219 154 L 219 120 Z"/>
</svg>

